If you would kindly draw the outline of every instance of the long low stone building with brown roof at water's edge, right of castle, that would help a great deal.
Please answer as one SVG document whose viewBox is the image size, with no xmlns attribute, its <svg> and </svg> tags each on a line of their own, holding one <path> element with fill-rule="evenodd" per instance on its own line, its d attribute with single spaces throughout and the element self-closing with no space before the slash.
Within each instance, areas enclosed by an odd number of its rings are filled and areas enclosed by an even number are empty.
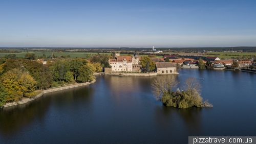
<svg viewBox="0 0 256 144">
<path fill-rule="evenodd" d="M 170 62 L 156 62 L 155 72 L 157 75 L 179 74 L 177 67 Z"/>
</svg>

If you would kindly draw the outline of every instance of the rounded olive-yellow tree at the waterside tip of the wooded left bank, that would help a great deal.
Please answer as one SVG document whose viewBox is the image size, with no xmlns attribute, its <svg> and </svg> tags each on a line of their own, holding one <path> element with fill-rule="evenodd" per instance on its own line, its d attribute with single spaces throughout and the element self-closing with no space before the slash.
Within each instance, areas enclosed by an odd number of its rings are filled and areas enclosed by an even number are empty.
<svg viewBox="0 0 256 144">
<path fill-rule="evenodd" d="M 93 81 L 95 79 L 95 76 L 93 75 L 95 73 L 95 68 L 92 63 L 87 63 L 86 65 L 83 65 L 79 69 L 79 76 L 77 77 L 77 81 L 80 82 L 88 82 Z"/>
</svg>

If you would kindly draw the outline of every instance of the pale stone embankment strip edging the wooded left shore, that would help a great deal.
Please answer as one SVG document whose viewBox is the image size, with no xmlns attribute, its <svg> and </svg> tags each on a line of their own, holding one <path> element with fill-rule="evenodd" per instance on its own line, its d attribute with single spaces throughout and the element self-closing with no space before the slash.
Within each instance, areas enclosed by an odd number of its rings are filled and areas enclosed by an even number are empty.
<svg viewBox="0 0 256 144">
<path fill-rule="evenodd" d="M 71 84 L 71 85 L 66 85 L 66 86 L 59 86 L 59 87 L 54 87 L 54 88 L 49 88 L 49 89 L 46 89 L 46 90 L 42 90 L 40 93 L 35 95 L 35 97 L 33 97 L 33 98 L 23 98 L 22 100 L 20 100 L 18 102 L 6 103 L 3 106 L 3 108 L 9 107 L 9 106 L 25 104 L 25 103 L 27 103 L 29 101 L 32 101 L 32 100 L 35 100 L 35 99 L 41 97 L 44 93 L 53 92 L 53 91 L 59 91 L 59 90 L 64 90 L 64 89 L 69 89 L 69 88 L 74 88 L 74 87 L 79 87 L 79 86 L 83 86 L 83 85 L 88 85 L 88 84 L 95 83 L 95 81 L 96 81 L 96 79 L 94 79 L 92 82 L 76 83 L 76 84 Z"/>
</svg>

